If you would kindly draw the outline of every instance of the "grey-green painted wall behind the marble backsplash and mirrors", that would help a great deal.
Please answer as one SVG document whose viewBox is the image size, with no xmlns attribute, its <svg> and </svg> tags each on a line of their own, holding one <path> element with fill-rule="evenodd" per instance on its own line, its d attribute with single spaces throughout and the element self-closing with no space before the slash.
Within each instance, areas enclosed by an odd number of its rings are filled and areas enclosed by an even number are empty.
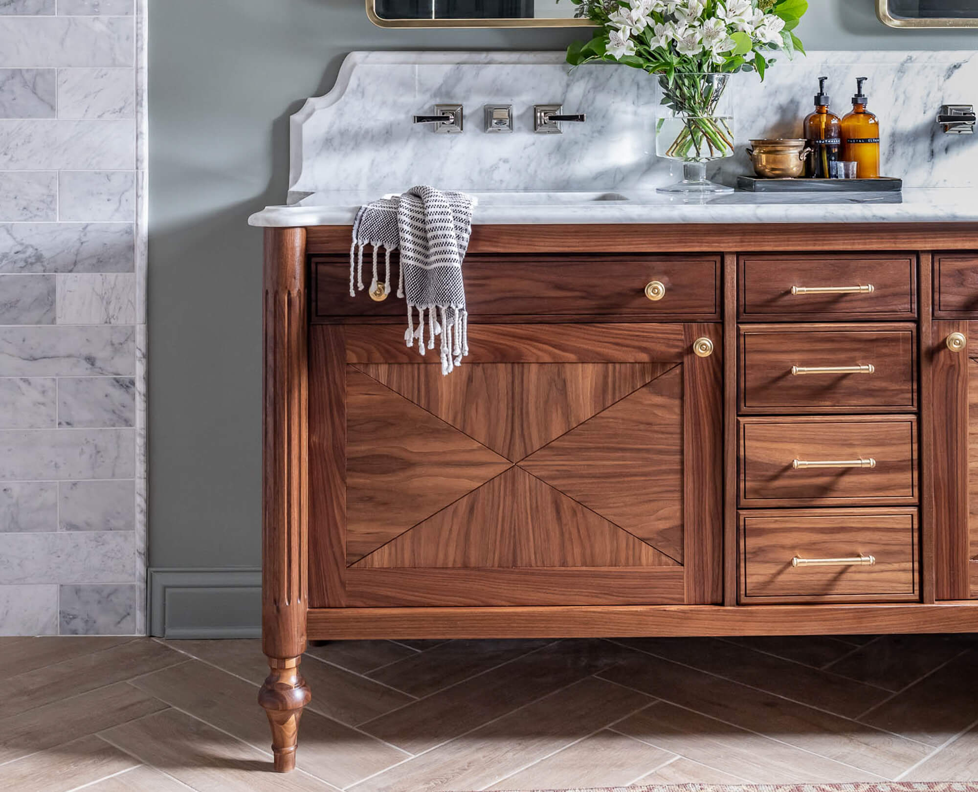
<svg viewBox="0 0 978 792">
<path fill-rule="evenodd" d="M 874 0 L 810 2 L 810 50 L 978 42 L 887 28 Z M 285 198 L 289 114 L 350 50 L 560 49 L 580 33 L 380 29 L 362 0 L 159 0 L 150 27 L 150 563 L 256 566 L 261 234 L 245 221 Z"/>
</svg>

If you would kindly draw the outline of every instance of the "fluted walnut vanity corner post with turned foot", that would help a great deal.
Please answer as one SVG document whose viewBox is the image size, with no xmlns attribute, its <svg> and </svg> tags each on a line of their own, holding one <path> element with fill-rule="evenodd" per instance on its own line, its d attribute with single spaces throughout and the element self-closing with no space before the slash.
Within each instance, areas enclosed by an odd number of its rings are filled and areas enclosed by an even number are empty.
<svg viewBox="0 0 978 792">
<path fill-rule="evenodd" d="M 270 673 L 258 693 L 275 770 L 295 767 L 308 609 L 308 381 L 305 229 L 266 229 L 262 411 L 261 637 Z"/>
</svg>

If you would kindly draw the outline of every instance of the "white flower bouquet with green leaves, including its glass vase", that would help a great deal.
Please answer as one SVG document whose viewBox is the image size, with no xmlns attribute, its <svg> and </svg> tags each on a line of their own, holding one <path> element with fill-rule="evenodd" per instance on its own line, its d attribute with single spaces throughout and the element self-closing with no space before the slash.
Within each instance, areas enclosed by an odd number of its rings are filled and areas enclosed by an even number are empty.
<svg viewBox="0 0 978 792">
<path fill-rule="evenodd" d="M 663 112 L 656 154 L 684 162 L 685 181 L 667 192 L 713 193 L 705 162 L 733 155 L 730 75 L 760 78 L 779 53 L 804 53 L 794 34 L 808 0 L 571 0 L 575 16 L 598 25 L 594 38 L 567 48 L 574 66 L 594 61 L 657 74 Z"/>
</svg>

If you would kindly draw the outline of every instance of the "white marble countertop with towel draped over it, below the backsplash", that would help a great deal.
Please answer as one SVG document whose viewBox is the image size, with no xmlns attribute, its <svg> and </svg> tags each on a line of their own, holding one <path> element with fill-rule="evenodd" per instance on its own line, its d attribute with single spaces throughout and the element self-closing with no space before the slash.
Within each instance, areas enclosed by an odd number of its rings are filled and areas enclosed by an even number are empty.
<svg viewBox="0 0 978 792">
<path fill-rule="evenodd" d="M 953 223 L 978 222 L 978 188 L 909 188 L 902 194 L 729 193 L 676 198 L 651 191 L 479 192 L 479 225 L 585 223 Z M 356 191 L 316 193 L 268 206 L 252 226 L 348 226 L 357 209 L 379 198 Z"/>
</svg>

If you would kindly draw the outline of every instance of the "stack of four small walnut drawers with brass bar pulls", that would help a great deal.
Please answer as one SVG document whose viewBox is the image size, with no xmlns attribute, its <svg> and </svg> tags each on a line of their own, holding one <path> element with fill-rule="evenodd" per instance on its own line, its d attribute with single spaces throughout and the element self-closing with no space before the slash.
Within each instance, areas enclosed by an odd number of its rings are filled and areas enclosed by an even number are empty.
<svg viewBox="0 0 978 792">
<path fill-rule="evenodd" d="M 739 600 L 908 601 L 916 256 L 738 260 Z"/>
</svg>

